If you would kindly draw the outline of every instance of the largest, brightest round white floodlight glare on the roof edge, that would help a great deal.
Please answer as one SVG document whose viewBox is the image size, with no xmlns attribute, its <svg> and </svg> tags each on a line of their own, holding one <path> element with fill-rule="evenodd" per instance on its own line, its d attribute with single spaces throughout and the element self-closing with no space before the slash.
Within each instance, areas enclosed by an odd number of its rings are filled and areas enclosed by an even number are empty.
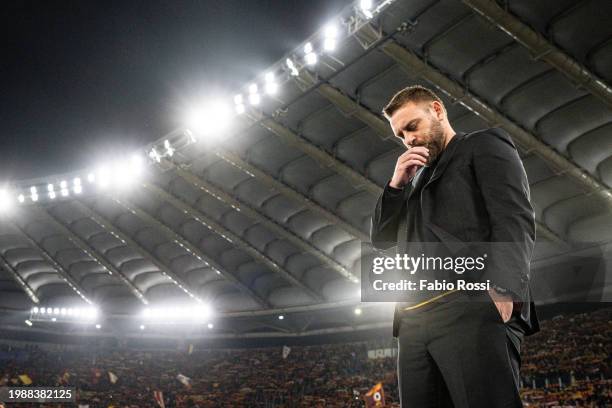
<svg viewBox="0 0 612 408">
<path fill-rule="evenodd" d="M 239 100 L 242 100 L 242 95 L 240 95 Z M 242 104 L 237 104 L 236 109 L 238 106 L 242 106 Z M 231 118 L 231 106 L 222 100 L 216 100 L 193 109 L 187 118 L 187 122 L 189 128 L 193 129 L 196 134 L 219 138 L 229 128 Z"/>
</svg>

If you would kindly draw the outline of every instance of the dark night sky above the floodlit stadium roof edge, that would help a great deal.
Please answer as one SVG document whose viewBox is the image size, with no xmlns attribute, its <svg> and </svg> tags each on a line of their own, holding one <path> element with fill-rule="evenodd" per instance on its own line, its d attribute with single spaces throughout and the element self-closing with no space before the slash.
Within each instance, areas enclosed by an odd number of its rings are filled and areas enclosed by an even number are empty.
<svg viewBox="0 0 612 408">
<path fill-rule="evenodd" d="M 0 182 L 79 170 L 162 137 L 193 101 L 233 95 L 349 3 L 4 3 Z"/>
</svg>

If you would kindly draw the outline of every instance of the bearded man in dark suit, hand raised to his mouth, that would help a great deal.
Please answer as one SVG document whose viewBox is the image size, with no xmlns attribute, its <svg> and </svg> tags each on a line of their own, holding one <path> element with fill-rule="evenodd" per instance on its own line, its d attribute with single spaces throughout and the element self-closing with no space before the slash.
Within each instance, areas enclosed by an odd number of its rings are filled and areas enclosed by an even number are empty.
<svg viewBox="0 0 612 408">
<path fill-rule="evenodd" d="M 398 92 L 383 113 L 406 146 L 372 220 L 375 247 L 487 242 L 489 290 L 422 292 L 396 304 L 403 407 L 521 407 L 520 345 L 539 330 L 529 264 L 529 184 L 501 129 L 456 133 L 431 90 Z"/>
</svg>

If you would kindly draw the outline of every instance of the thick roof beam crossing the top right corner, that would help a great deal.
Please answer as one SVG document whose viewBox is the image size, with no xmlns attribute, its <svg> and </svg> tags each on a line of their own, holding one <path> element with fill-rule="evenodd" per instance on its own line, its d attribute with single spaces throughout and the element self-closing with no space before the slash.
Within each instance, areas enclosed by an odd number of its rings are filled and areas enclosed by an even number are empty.
<svg viewBox="0 0 612 408">
<path fill-rule="evenodd" d="M 463 0 L 463 2 L 527 48 L 534 58 L 546 61 L 572 82 L 588 90 L 612 108 L 612 88 L 584 65 L 549 42 L 542 34 L 504 10 L 494 0 Z"/>
</svg>

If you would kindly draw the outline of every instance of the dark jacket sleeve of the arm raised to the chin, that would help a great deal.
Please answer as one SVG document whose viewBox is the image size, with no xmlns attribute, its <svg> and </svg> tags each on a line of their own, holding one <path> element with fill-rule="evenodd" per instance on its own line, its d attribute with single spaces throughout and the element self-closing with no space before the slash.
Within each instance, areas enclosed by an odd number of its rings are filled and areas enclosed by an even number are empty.
<svg viewBox="0 0 612 408">
<path fill-rule="evenodd" d="M 370 228 L 370 239 L 375 248 L 388 249 L 397 245 L 399 217 L 405 194 L 411 188 L 411 184 L 407 184 L 403 190 L 390 187 L 389 183 L 385 186 L 376 203 Z"/>
</svg>

